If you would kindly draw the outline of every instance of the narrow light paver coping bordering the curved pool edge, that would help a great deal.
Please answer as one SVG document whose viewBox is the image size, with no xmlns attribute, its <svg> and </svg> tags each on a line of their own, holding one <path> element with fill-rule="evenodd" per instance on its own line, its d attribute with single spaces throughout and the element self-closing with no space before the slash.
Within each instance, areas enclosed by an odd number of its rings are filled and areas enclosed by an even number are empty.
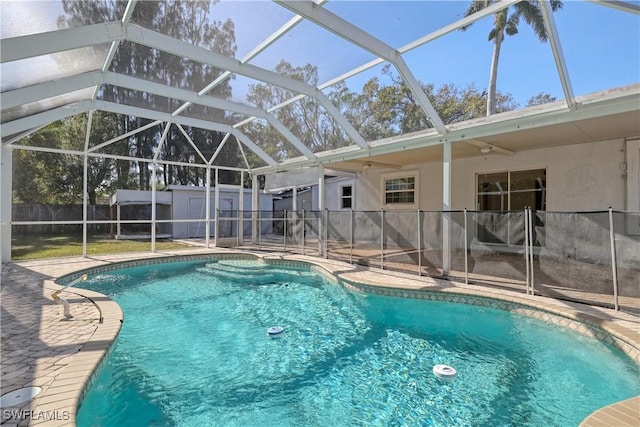
<svg viewBox="0 0 640 427">
<path fill-rule="evenodd" d="M 196 253 L 181 251 L 170 254 L 156 253 L 153 256 L 129 254 L 128 256 L 111 258 L 100 257 L 98 262 L 87 267 L 78 269 L 73 268 L 73 265 L 71 267 L 67 266 L 68 268 L 61 269 L 59 274 L 43 280 L 41 286 L 53 291 L 63 287 L 63 285 L 57 283 L 59 280 L 73 280 L 83 273 L 97 274 L 136 265 L 197 259 L 262 259 L 266 263 L 310 268 L 322 274 L 328 280 L 358 292 L 404 298 L 452 301 L 517 312 L 609 342 L 640 365 L 640 318 L 632 315 L 613 312 L 611 309 L 600 309 L 545 297 L 518 294 L 513 291 L 464 285 L 427 276 L 417 277 L 305 255 L 209 249 L 207 251 L 196 251 Z M 61 260 L 61 262 L 64 263 L 64 260 Z M 70 288 L 69 291 L 74 295 L 91 301 L 96 307 L 97 316 L 101 316 L 103 320 L 102 323 L 97 324 L 95 333 L 82 345 L 80 351 L 73 356 L 68 365 L 55 377 L 51 385 L 30 404 L 30 411 L 35 413 L 68 411 L 71 415 L 69 419 L 60 420 L 59 423 L 54 422 L 51 424 L 51 420 L 48 420 L 47 425 L 75 425 L 75 415 L 79 409 L 80 402 L 98 376 L 112 348 L 112 344 L 117 339 L 124 320 L 124 313 L 118 304 L 105 295 L 80 288 Z M 101 315 L 100 312 L 102 313 Z M 640 396 L 633 399 L 637 399 L 640 402 Z M 624 402 L 619 403 L 622 404 Z M 613 406 L 615 405 L 617 404 Z M 602 419 L 602 411 L 605 409 L 601 408 L 592 415 L 595 416 L 596 413 L 599 413 L 599 419 Z M 614 410 L 613 413 L 617 412 Z M 608 416 L 606 415 L 606 417 Z M 640 413 L 632 414 L 632 416 L 638 419 Z M 606 417 L 605 419 L 609 419 Z M 628 417 L 628 412 L 625 417 Z M 592 416 L 585 419 L 583 425 L 598 425 L 593 423 L 585 424 L 590 419 L 592 419 Z M 31 420 L 31 422 L 16 425 L 37 425 L 39 424 L 38 421 Z M 10 424 L 3 425 L 9 426 Z"/>
</svg>

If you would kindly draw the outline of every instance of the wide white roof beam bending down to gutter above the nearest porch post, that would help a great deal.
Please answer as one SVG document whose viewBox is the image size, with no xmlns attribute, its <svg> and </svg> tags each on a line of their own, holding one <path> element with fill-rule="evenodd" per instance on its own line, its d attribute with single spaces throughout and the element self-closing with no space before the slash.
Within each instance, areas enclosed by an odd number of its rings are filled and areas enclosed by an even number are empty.
<svg viewBox="0 0 640 427">
<path fill-rule="evenodd" d="M 418 104 L 420 104 L 433 123 L 433 126 L 439 133 L 447 133 L 447 128 L 442 119 L 433 108 L 433 105 L 431 105 L 420 83 L 405 63 L 400 52 L 312 1 L 274 1 L 293 13 L 304 16 L 307 20 L 393 64 L 411 90 L 411 93 L 416 97 Z"/>
</svg>

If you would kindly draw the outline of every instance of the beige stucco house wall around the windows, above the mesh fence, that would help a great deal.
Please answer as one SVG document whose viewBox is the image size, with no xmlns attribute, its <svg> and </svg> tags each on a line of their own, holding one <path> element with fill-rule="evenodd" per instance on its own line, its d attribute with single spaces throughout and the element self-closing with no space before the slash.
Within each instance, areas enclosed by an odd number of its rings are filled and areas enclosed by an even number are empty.
<svg viewBox="0 0 640 427">
<path fill-rule="evenodd" d="M 548 211 L 640 210 L 640 139 L 614 139 L 540 148 L 511 156 L 491 153 L 452 162 L 452 209 L 475 210 L 476 176 L 481 173 L 546 169 Z M 382 207 L 383 178 L 417 174 L 418 203 L 393 209 L 442 210 L 442 163 L 400 169 L 370 168 L 358 174 L 355 209 Z M 327 190 L 327 198 L 334 197 Z"/>
</svg>

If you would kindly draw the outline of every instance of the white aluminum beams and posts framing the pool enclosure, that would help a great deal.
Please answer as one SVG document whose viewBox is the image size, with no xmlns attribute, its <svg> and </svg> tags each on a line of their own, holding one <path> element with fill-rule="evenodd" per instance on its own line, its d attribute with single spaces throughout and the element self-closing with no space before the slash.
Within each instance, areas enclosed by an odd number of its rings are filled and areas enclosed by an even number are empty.
<svg viewBox="0 0 640 427">
<path fill-rule="evenodd" d="M 625 13 L 640 15 L 640 6 L 631 2 L 602 0 L 591 1 L 604 7 L 615 8 Z M 613 93 L 609 97 L 602 97 L 595 101 L 591 100 L 588 97 L 576 97 L 574 95 L 574 90 L 571 84 L 569 71 L 566 66 L 560 37 L 556 29 L 556 24 L 554 21 L 553 13 L 551 12 L 549 1 L 539 0 L 539 4 L 543 12 L 545 28 L 549 37 L 549 46 L 556 65 L 555 71 L 557 72 L 559 80 L 561 82 L 565 99 L 560 103 L 550 104 L 545 108 L 539 108 L 528 113 L 520 113 L 519 111 L 515 111 L 512 112 L 512 114 L 502 114 L 499 117 L 488 117 L 481 120 L 472 120 L 452 125 L 445 125 L 433 108 L 431 101 L 420 89 L 419 83 L 412 73 L 410 67 L 405 62 L 403 55 L 407 52 L 412 51 L 413 49 L 416 49 L 449 33 L 458 31 L 461 28 L 477 22 L 485 17 L 495 14 L 496 12 L 512 6 L 517 2 L 518 0 L 502 0 L 496 2 L 471 16 L 458 19 L 453 23 L 445 25 L 430 34 L 427 34 L 406 44 L 405 46 L 393 48 L 392 46 L 389 46 L 388 44 L 377 39 L 372 34 L 367 33 L 351 22 L 348 22 L 347 20 L 335 15 L 334 13 L 331 13 L 328 9 L 324 8 L 323 5 L 326 3 L 326 0 L 319 2 L 276 0 L 276 4 L 294 12 L 296 16 L 287 21 L 275 32 L 264 38 L 254 49 L 252 49 L 240 60 L 229 58 L 222 54 L 212 52 L 211 50 L 194 46 L 192 44 L 171 38 L 167 35 L 131 23 L 131 17 L 135 11 L 137 0 L 130 0 L 128 2 L 124 14 L 119 21 L 103 22 L 76 28 L 2 39 L 0 41 L 0 63 L 2 64 L 22 59 L 34 58 L 41 55 L 64 52 L 71 49 L 77 49 L 87 46 L 108 44 L 109 48 L 107 54 L 105 55 L 103 65 L 98 70 L 71 75 L 69 77 L 61 78 L 54 81 L 44 81 L 31 86 L 19 87 L 5 91 L 1 94 L 2 112 L 4 113 L 5 111 L 8 111 L 10 109 L 15 109 L 27 104 L 45 101 L 56 96 L 69 94 L 83 89 L 94 89 L 91 92 L 92 96 L 86 99 L 76 100 L 74 102 L 70 102 L 56 108 L 43 109 L 41 111 L 34 112 L 33 114 L 21 116 L 13 120 L 1 123 L 0 137 L 2 138 L 2 146 L 0 150 L 0 163 L 2 165 L 2 171 L 0 171 L 0 258 L 2 259 L 2 262 L 6 262 L 11 259 L 12 150 L 33 150 L 39 152 L 66 153 L 83 157 L 85 165 L 83 186 L 85 190 L 87 187 L 87 159 L 90 157 L 109 157 L 114 159 L 132 160 L 148 163 L 149 165 L 153 166 L 154 174 L 155 167 L 162 164 L 204 168 L 206 170 L 207 176 L 209 177 L 207 179 L 207 185 L 210 185 L 212 178 L 217 177 L 219 169 L 242 171 L 243 177 L 244 172 L 246 172 L 247 174 L 250 174 L 252 176 L 255 183 L 257 181 L 257 179 L 255 178 L 258 175 L 311 166 L 318 168 L 320 188 L 324 188 L 322 171 L 324 170 L 325 165 L 329 165 L 331 162 L 367 159 L 371 156 L 393 153 L 396 151 L 402 151 L 411 148 L 441 145 L 443 149 L 444 166 L 442 208 L 444 211 L 447 211 L 450 210 L 451 201 L 450 182 L 451 174 L 453 173 L 453 171 L 451 170 L 452 144 L 473 140 L 474 138 L 479 138 L 482 136 L 514 132 L 516 129 L 536 129 L 539 127 L 558 123 L 569 123 L 572 121 L 597 118 L 605 115 L 638 111 L 640 90 L 637 87 L 632 88 L 626 93 Z M 369 61 L 366 64 L 362 64 L 350 71 L 347 71 L 340 76 L 334 77 L 322 84 L 319 84 L 317 87 L 282 76 L 275 72 L 257 67 L 249 63 L 252 58 L 259 55 L 280 38 L 286 36 L 293 28 L 295 28 L 299 23 L 303 21 L 308 21 L 315 25 L 318 25 L 341 37 L 343 40 L 346 40 L 350 44 L 358 46 L 359 48 L 372 53 L 375 59 Z M 187 58 L 197 63 L 207 64 L 221 69 L 223 73 L 215 81 L 211 81 L 202 89 L 194 91 L 177 87 L 170 87 L 164 84 L 154 83 L 133 76 L 109 71 L 111 61 L 114 58 L 114 55 L 116 54 L 119 46 L 124 41 L 130 41 L 133 43 L 148 46 L 162 52 L 177 55 L 181 58 Z M 336 106 L 333 105 L 329 98 L 322 92 L 323 89 L 326 89 L 327 87 L 337 82 L 344 81 L 350 77 L 353 77 L 385 62 L 388 62 L 396 68 L 405 84 L 410 88 L 412 94 L 416 97 L 416 100 L 424 110 L 425 115 L 428 116 L 430 121 L 433 123 L 433 128 L 408 135 L 399 135 L 385 140 L 366 141 L 362 137 L 362 135 L 360 135 L 358 131 L 351 125 L 351 123 L 340 113 Z M 215 86 L 219 85 L 222 81 L 229 78 L 232 74 L 238 74 L 254 79 L 258 82 L 285 88 L 296 93 L 297 95 L 279 105 L 270 107 L 268 109 L 260 109 L 227 100 L 216 99 L 211 96 L 205 96 Z M 150 94 L 167 96 L 177 99 L 183 102 L 183 104 L 173 112 L 163 112 L 154 110 L 151 107 L 133 107 L 98 100 L 97 95 L 103 85 L 112 85 L 122 88 L 140 90 Z M 313 152 L 305 144 L 305 141 L 301 141 L 291 132 L 290 129 L 288 129 L 282 122 L 280 122 L 276 118 L 274 112 L 304 97 L 311 97 L 319 105 L 321 105 L 332 117 L 332 119 L 335 120 L 335 122 L 342 128 L 344 133 L 351 139 L 353 145 L 341 149 L 327 150 L 324 152 Z M 216 108 L 227 112 L 238 113 L 249 116 L 250 118 L 242 120 L 235 124 L 228 124 L 204 119 L 196 119 L 182 115 L 187 107 L 192 104 Z M 134 115 L 141 118 L 153 120 L 153 122 L 136 130 L 132 130 L 127 134 L 112 138 L 108 141 L 104 141 L 101 144 L 90 147 L 88 144 L 89 134 L 91 131 L 90 123 L 93 114 L 92 112 L 96 110 L 113 112 L 117 114 Z M 89 126 L 87 129 L 84 149 L 82 151 L 60 150 L 54 148 L 20 145 L 21 138 L 24 138 L 30 133 L 41 129 L 43 126 L 46 126 L 57 120 L 83 113 L 89 113 Z M 271 125 L 280 133 L 284 141 L 286 141 L 288 144 L 299 151 L 300 157 L 295 157 L 278 162 L 267 153 L 265 153 L 265 151 L 262 150 L 255 141 L 252 141 L 240 130 L 240 127 L 242 125 L 254 119 L 261 119 L 268 122 L 269 125 Z M 177 126 L 178 129 L 180 129 L 183 133 L 184 131 L 182 129 L 182 126 L 191 126 L 201 129 L 223 132 L 226 134 L 226 136 L 223 139 L 221 145 L 218 147 L 216 153 L 214 153 L 211 158 L 204 158 L 204 156 L 202 156 L 202 153 L 199 153 L 203 163 L 198 164 L 161 160 L 157 158 L 157 155 L 154 158 L 140 159 L 131 155 L 115 156 L 100 152 L 101 148 L 104 148 L 131 135 L 135 135 L 137 132 L 141 132 L 151 126 L 160 124 L 165 126 L 163 138 L 160 142 L 161 145 L 166 138 L 167 131 L 170 126 Z M 239 149 L 242 152 L 242 156 L 244 159 L 244 165 L 237 165 L 237 167 L 215 166 L 214 161 L 216 157 L 220 153 L 222 146 L 227 142 L 229 136 L 231 135 L 236 137 L 236 140 L 238 141 Z M 190 144 L 196 151 L 198 151 L 193 141 L 191 141 Z M 264 162 L 265 166 L 252 169 L 247 162 L 247 157 L 244 152 L 245 149 L 249 149 L 250 151 L 254 152 Z M 500 147 L 494 147 L 494 149 L 496 149 L 496 151 L 499 151 Z M 503 150 L 502 153 L 508 155 L 509 151 Z M 211 177 L 212 170 L 214 173 L 214 177 Z M 153 187 L 153 191 L 155 192 L 155 186 Z M 254 186 L 254 192 L 256 191 L 257 189 Z M 86 216 L 86 191 L 84 193 L 85 195 L 83 197 L 83 204 L 85 205 L 85 214 L 83 215 L 83 220 L 81 223 L 83 224 L 85 230 L 85 244 L 83 245 L 83 254 L 86 255 L 86 226 L 88 221 Z M 319 206 L 321 206 L 322 209 L 324 207 L 324 192 L 321 191 L 320 193 L 322 196 Z M 257 196 L 255 196 L 254 198 L 257 200 Z M 252 207 L 252 209 L 255 210 L 255 207 Z M 209 219 L 210 217 L 209 215 L 207 215 L 207 221 L 209 221 Z M 256 225 L 254 218 L 254 229 L 255 228 Z M 445 240 L 447 239 L 446 236 L 447 234 L 445 233 Z M 152 250 L 154 249 L 155 248 L 153 248 Z"/>
</svg>

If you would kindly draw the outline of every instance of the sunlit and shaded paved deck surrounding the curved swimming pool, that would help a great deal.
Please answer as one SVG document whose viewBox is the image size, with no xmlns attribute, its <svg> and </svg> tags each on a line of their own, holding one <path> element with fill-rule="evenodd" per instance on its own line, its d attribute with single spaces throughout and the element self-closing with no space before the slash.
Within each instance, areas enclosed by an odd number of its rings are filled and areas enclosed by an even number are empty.
<svg viewBox="0 0 640 427">
<path fill-rule="evenodd" d="M 75 413 L 85 385 L 120 330 L 123 313 L 118 305 L 109 298 L 83 289 L 70 288 L 61 294 L 71 304 L 74 316 L 65 320 L 63 306 L 51 297 L 60 288 L 54 283 L 56 278 L 131 260 L 233 253 L 239 251 L 198 248 L 3 264 L 0 282 L 1 393 L 31 386 L 41 387 L 42 393 L 20 407 L 2 408 L 2 426 L 75 425 Z M 375 286 L 385 292 L 432 290 L 463 297 L 488 297 L 561 314 L 614 333 L 635 349 L 633 357 L 636 363 L 640 363 L 640 317 L 627 313 L 513 291 L 367 269 L 318 257 L 277 252 L 256 255 L 267 259 L 310 262 L 347 283 Z M 614 425 L 640 426 L 640 396 L 600 409 L 582 424 L 584 427 Z"/>
</svg>

